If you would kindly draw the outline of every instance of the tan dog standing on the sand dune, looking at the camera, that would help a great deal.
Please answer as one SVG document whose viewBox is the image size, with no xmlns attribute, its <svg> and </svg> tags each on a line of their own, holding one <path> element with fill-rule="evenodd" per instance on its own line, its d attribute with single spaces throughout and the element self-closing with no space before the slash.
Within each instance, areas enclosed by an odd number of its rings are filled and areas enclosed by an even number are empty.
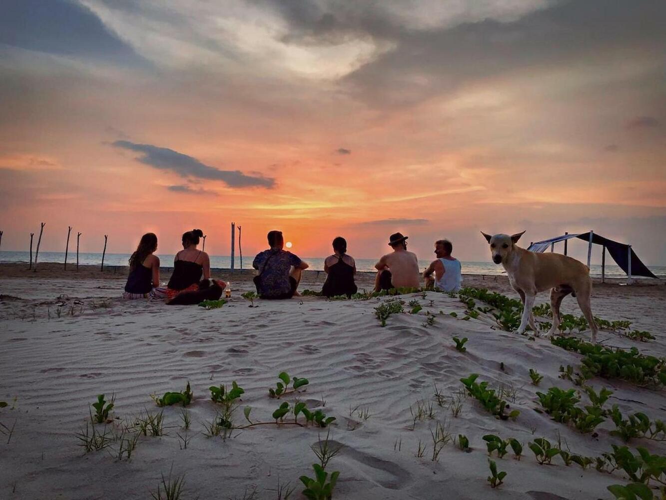
<svg viewBox="0 0 666 500">
<path fill-rule="evenodd" d="M 578 300 L 578 305 L 587 319 L 592 331 L 592 343 L 597 342 L 597 324 L 592 316 L 590 307 L 590 295 L 592 293 L 592 280 L 589 277 L 589 269 L 576 259 L 571 259 L 560 253 L 536 253 L 525 250 L 516 245 L 520 237 L 525 233 L 515 235 L 487 235 L 482 231 L 490 243 L 490 252 L 493 262 L 503 265 L 509 275 L 509 283 L 523 301 L 523 316 L 517 333 L 523 333 L 527 323 L 539 336 L 534 324 L 532 307 L 537 293 L 550 290 L 550 305 L 553 309 L 553 326 L 548 332 L 549 336 L 555 335 L 559 326 L 559 305 L 562 299 L 573 295 Z"/>
</svg>

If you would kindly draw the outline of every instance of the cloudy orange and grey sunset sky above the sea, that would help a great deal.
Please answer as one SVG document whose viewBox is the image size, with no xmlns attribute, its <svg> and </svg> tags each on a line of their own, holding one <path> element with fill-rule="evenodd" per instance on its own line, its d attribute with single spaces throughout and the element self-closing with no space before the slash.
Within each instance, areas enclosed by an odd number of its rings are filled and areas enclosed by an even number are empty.
<svg viewBox="0 0 666 500">
<path fill-rule="evenodd" d="M 1 249 L 422 258 L 564 231 L 666 265 L 666 2 L 5 0 Z M 573 244 L 572 244 L 573 245 Z M 585 243 L 579 242 L 583 249 Z M 599 255 L 597 255 L 599 253 Z M 593 262 L 599 261 L 600 250 Z"/>
</svg>

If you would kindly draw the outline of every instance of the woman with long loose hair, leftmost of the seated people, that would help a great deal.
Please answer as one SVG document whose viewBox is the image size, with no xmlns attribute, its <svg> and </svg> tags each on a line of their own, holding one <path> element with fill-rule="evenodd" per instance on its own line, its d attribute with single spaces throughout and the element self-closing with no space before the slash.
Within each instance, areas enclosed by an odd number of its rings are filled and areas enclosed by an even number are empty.
<svg viewBox="0 0 666 500">
<path fill-rule="evenodd" d="M 160 259 L 153 255 L 157 250 L 157 236 L 146 233 L 141 237 L 137 250 L 129 258 L 129 276 L 125 284 L 124 299 L 145 299 L 160 285 Z"/>
</svg>

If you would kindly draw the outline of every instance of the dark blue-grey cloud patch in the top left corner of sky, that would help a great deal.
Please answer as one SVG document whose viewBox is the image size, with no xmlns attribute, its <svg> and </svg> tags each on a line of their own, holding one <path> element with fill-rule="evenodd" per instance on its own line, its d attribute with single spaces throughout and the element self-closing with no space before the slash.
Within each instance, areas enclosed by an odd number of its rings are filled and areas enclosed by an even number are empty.
<svg viewBox="0 0 666 500">
<path fill-rule="evenodd" d="M 90 9 L 68 0 L 3 0 L 2 43 L 51 54 L 147 63 Z"/>
</svg>

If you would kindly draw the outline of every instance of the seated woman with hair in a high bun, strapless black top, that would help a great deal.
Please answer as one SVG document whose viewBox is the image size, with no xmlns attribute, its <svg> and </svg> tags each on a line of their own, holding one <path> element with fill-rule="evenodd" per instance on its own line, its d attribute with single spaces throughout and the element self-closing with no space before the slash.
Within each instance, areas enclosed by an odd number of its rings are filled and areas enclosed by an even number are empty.
<svg viewBox="0 0 666 500">
<path fill-rule="evenodd" d="M 204 235 L 201 229 L 192 229 L 182 235 L 182 250 L 176 253 L 173 261 L 173 273 L 166 289 L 157 290 L 156 298 L 170 301 L 183 292 L 197 291 L 199 281 L 210 278 L 210 259 L 208 254 L 198 250 L 200 238 Z M 224 284 L 224 282 L 218 282 Z M 226 287 L 226 284 L 222 288 Z"/>
</svg>

